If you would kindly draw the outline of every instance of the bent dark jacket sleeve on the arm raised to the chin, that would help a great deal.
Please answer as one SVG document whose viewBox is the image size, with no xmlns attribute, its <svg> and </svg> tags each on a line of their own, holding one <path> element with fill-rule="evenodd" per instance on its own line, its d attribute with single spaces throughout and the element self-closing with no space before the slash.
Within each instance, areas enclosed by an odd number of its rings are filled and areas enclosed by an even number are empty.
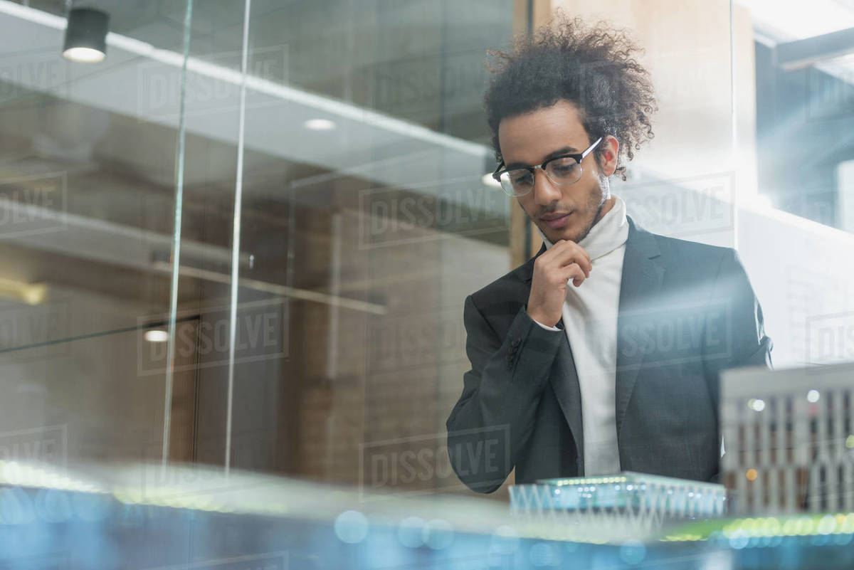
<svg viewBox="0 0 854 570">
<path fill-rule="evenodd" d="M 529 439 L 564 331 L 538 326 L 523 305 L 500 338 L 471 295 L 463 320 L 471 369 L 447 418 L 447 451 L 466 486 L 492 492 L 506 480 Z"/>
</svg>

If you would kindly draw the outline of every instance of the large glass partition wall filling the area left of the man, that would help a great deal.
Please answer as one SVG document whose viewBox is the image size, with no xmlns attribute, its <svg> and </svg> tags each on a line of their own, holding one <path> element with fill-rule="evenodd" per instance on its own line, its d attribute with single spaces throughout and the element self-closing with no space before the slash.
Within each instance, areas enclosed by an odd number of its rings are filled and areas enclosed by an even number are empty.
<svg viewBox="0 0 854 570">
<path fill-rule="evenodd" d="M 0 10 L 26 46 L 0 108 L 10 441 L 459 490 L 461 301 L 510 264 L 481 98 L 513 3 L 94 7 L 93 66 L 61 57 L 68 6 Z M 377 472 L 422 448 L 430 477 Z"/>
</svg>

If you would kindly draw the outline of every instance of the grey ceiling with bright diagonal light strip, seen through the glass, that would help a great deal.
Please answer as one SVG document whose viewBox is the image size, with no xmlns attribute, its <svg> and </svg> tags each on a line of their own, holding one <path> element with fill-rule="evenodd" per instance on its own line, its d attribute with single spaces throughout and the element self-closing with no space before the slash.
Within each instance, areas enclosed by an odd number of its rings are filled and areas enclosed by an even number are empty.
<svg viewBox="0 0 854 570">
<path fill-rule="evenodd" d="M 236 172 L 238 4 L 197 2 L 192 24 L 184 183 L 211 205 L 228 206 Z M 445 20 L 461 24 L 443 26 L 430 3 L 360 4 L 371 9 L 348 2 L 253 3 L 249 69 L 256 73 L 247 80 L 247 176 L 284 179 L 283 198 L 289 185 L 313 193 L 349 177 L 363 181 L 362 188 L 403 189 L 506 218 L 509 201 L 481 181 L 493 162 L 484 144 L 478 73 L 484 46 L 509 36 L 502 29 L 509 29 L 512 10 L 491 3 L 480 11 L 483 26 L 471 26 L 472 15 L 466 20 L 459 13 L 464 8 L 444 3 Z M 0 0 L 0 176 L 62 171 L 79 184 L 63 197 L 61 218 L 38 214 L 61 224 L 61 239 L 50 232 L 4 239 L 144 269 L 163 259 L 171 240 L 183 64 L 174 49 L 183 41 L 183 3 L 88 5 L 111 15 L 108 58 L 97 66 L 61 58 L 62 3 L 26 7 Z M 377 26 L 395 18 L 411 27 L 386 26 L 389 33 L 377 38 Z M 329 26 L 321 35 L 324 21 Z M 324 44 L 332 49 L 322 50 Z M 436 90 L 440 79 L 444 91 Z M 321 118 L 335 129 L 305 128 L 307 119 Z M 469 134 L 436 131 L 440 126 Z M 263 215 L 263 205 L 258 212 L 251 206 L 253 186 L 247 190 L 244 215 Z M 275 199 L 269 185 L 265 192 L 263 198 Z M 225 206 L 224 215 L 230 212 Z M 188 261 L 224 264 L 228 244 L 207 241 L 184 240 Z"/>
</svg>

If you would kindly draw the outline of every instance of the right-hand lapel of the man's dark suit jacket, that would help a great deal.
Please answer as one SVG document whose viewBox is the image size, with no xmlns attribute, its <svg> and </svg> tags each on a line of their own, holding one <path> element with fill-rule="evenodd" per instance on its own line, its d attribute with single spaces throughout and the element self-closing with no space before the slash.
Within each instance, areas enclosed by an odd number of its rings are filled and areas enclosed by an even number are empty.
<svg viewBox="0 0 854 570">
<path fill-rule="evenodd" d="M 651 316 L 651 306 L 664 278 L 664 267 L 656 259 L 660 254 L 652 234 L 629 218 L 617 313 L 617 436 L 643 365 L 640 325 Z"/>
</svg>

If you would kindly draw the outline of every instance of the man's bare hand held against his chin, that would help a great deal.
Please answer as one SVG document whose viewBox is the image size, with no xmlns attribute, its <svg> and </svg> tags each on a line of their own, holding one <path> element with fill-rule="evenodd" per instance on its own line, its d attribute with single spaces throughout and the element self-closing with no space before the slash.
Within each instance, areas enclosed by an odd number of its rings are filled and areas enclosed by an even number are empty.
<svg viewBox="0 0 854 570">
<path fill-rule="evenodd" d="M 566 287 L 578 287 L 590 276 L 590 256 L 575 241 L 560 240 L 534 261 L 534 277 L 528 297 L 528 315 L 553 327 L 561 317 Z"/>
</svg>

